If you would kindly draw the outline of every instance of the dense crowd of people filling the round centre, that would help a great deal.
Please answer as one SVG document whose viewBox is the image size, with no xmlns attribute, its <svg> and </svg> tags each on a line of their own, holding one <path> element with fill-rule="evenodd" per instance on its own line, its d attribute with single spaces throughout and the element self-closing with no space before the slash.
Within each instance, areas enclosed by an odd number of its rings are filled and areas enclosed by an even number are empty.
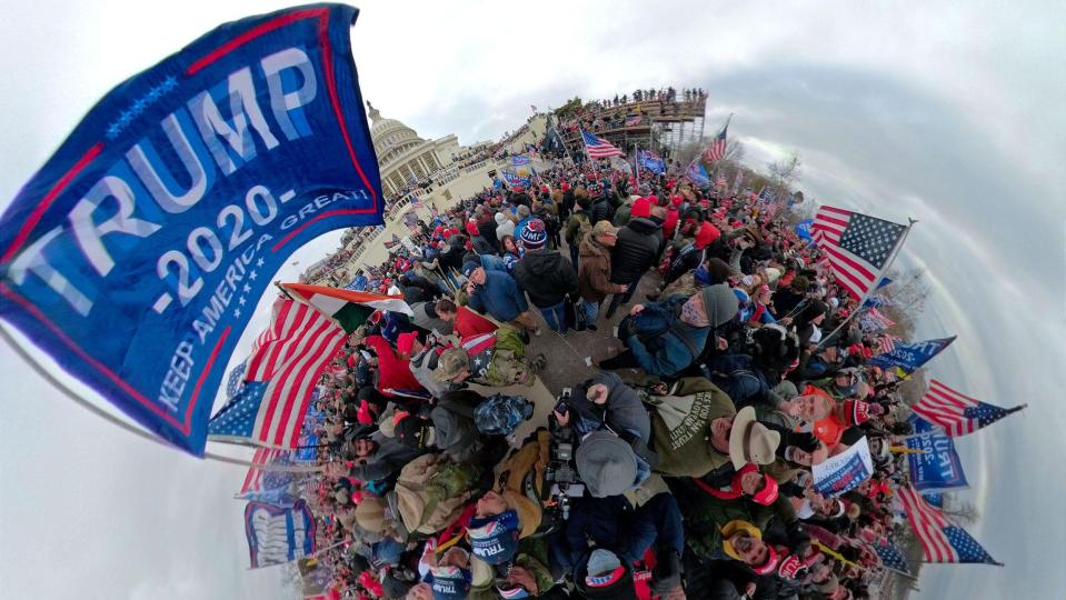
<svg viewBox="0 0 1066 600">
<path fill-rule="evenodd" d="M 339 543 L 319 557 L 333 593 L 870 597 L 904 477 L 898 381 L 866 364 L 876 339 L 834 332 L 857 302 L 766 209 L 556 161 L 360 271 L 349 287 L 415 317 L 372 314 L 323 376 L 309 500 L 319 546 Z M 622 350 L 518 436 L 522 390 L 566 367 L 538 351 L 555 336 Z M 863 438 L 874 476 L 818 493 L 811 467 Z"/>
</svg>

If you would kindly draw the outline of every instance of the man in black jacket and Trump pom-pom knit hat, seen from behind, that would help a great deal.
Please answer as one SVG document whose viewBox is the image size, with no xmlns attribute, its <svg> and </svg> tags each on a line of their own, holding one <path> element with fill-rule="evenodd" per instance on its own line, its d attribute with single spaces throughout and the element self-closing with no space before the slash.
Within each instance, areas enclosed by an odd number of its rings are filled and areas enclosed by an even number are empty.
<svg viewBox="0 0 1066 600">
<path fill-rule="evenodd" d="M 515 279 L 529 293 L 529 301 L 540 310 L 552 331 L 566 333 L 566 297 L 577 300 L 577 273 L 559 252 L 545 244 L 548 233 L 544 221 L 531 219 L 521 232 L 526 256 L 515 267 Z"/>
</svg>

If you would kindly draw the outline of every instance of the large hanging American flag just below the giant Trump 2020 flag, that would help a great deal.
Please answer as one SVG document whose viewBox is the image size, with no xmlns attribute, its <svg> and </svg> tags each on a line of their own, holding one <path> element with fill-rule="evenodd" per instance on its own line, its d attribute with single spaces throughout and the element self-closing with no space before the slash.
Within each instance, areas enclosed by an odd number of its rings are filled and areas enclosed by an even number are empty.
<svg viewBox="0 0 1066 600">
<path fill-rule="evenodd" d="M 212 439 L 295 448 L 315 384 L 345 331 L 313 308 L 278 299 L 272 337 L 248 359 L 245 384 L 211 418 Z"/>
</svg>

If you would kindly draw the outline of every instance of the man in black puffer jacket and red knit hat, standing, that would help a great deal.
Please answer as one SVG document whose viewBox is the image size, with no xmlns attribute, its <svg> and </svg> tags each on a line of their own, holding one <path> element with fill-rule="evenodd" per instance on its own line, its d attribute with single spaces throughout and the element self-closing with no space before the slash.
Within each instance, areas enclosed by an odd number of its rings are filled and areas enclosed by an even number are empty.
<svg viewBox="0 0 1066 600">
<path fill-rule="evenodd" d="M 655 263 L 655 258 L 659 254 L 662 237 L 659 236 L 659 224 L 650 217 L 650 201 L 647 198 L 640 198 L 632 203 L 629 223 L 618 231 L 618 241 L 610 256 L 610 282 L 629 286 L 629 288 L 611 297 L 610 306 L 607 308 L 608 319 L 614 317 L 618 304 L 629 303 L 637 290 L 637 283 L 640 282 L 640 277 Z"/>
</svg>

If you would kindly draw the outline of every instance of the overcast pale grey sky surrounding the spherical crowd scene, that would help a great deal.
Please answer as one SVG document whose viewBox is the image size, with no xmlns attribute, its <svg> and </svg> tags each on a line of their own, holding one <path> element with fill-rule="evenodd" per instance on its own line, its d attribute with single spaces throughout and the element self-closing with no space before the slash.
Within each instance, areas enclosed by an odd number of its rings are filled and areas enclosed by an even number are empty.
<svg viewBox="0 0 1066 600">
<path fill-rule="evenodd" d="M 900 260 L 933 284 L 920 334 L 959 334 L 930 374 L 1029 403 L 958 442 L 982 513 L 970 532 L 1007 567 L 927 567 L 921 597 L 1060 597 L 1046 549 L 1066 540 L 1062 2 L 454 4 L 366 2 L 352 33 L 365 97 L 424 137 L 470 143 L 529 104 L 699 86 L 708 131 L 736 113 L 748 163 L 797 150 L 808 198 L 919 219 Z M 116 83 L 283 6 L 9 2 L 0 204 Z M 312 246 L 286 269 L 336 236 Z M 0 356 L 0 597 L 282 597 L 276 569 L 246 570 L 243 469 L 100 422 Z"/>
</svg>

